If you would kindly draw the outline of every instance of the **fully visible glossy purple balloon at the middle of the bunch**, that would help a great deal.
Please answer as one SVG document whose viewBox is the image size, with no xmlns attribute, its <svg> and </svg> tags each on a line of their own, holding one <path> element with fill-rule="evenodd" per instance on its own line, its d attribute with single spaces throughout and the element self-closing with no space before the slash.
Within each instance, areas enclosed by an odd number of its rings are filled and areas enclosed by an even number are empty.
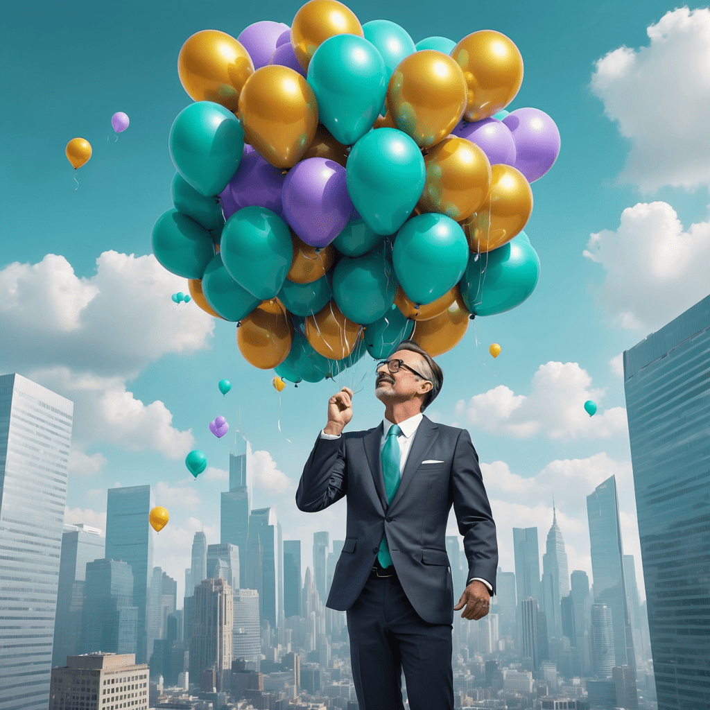
<svg viewBox="0 0 710 710">
<path fill-rule="evenodd" d="M 343 231 L 352 211 L 342 165 L 326 158 L 306 158 L 288 171 L 283 215 L 306 244 L 328 246 Z"/>
</svg>

